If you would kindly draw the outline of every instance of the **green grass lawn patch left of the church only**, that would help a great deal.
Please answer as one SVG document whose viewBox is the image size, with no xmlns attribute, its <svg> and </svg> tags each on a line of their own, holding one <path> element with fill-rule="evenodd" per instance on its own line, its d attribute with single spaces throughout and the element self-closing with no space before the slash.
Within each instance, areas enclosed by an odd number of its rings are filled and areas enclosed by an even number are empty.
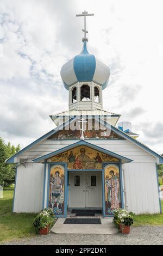
<svg viewBox="0 0 163 256">
<path fill-rule="evenodd" d="M 32 226 L 36 214 L 12 213 L 14 188 L 4 188 L 3 199 L 0 199 L 0 243 L 35 235 Z"/>
</svg>

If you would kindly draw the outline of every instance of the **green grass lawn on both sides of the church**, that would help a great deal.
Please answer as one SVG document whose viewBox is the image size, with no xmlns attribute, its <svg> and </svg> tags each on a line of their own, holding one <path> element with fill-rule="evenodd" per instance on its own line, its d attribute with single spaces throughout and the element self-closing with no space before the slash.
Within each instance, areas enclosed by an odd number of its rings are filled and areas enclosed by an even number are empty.
<svg viewBox="0 0 163 256">
<path fill-rule="evenodd" d="M 4 198 L 0 199 L 0 243 L 7 240 L 20 239 L 35 235 L 32 226 L 36 214 L 12 213 L 14 188 L 4 188 Z M 163 201 L 161 201 L 163 212 Z M 134 226 L 163 225 L 163 214 L 134 215 Z"/>
</svg>

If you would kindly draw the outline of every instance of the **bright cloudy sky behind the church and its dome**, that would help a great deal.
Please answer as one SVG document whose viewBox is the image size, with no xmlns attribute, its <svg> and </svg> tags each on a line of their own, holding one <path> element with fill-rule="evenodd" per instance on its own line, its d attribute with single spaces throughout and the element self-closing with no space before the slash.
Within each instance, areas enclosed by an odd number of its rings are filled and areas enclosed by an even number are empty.
<svg viewBox="0 0 163 256">
<path fill-rule="evenodd" d="M 87 10 L 90 53 L 110 66 L 104 109 L 131 121 L 139 140 L 163 153 L 162 0 L 1 0 L 0 136 L 33 142 L 68 108 L 61 66 L 82 50 Z"/>
</svg>

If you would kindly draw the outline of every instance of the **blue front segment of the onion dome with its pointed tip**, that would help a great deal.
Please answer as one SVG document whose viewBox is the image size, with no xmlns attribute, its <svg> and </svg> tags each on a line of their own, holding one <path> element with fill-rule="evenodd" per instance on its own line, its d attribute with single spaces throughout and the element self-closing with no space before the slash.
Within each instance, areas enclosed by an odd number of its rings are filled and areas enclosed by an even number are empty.
<svg viewBox="0 0 163 256">
<path fill-rule="evenodd" d="M 93 54 L 89 54 L 84 41 L 83 50 L 74 57 L 73 69 L 78 81 L 92 81 L 96 69 L 96 59 Z"/>
</svg>

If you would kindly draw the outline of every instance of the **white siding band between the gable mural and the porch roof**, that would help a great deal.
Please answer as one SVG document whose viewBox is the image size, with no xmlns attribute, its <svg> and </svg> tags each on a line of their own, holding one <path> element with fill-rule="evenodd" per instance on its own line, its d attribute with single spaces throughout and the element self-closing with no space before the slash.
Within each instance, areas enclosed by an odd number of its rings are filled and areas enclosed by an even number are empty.
<svg viewBox="0 0 163 256">
<path fill-rule="evenodd" d="M 55 150 L 66 147 L 77 141 L 69 140 L 45 140 L 35 145 L 33 148 L 27 150 L 17 157 L 17 159 L 28 159 L 28 162 L 36 159 L 37 157 L 52 153 Z M 87 142 L 96 144 L 99 147 L 110 150 L 114 153 L 127 157 L 134 162 L 154 163 L 157 158 L 139 148 L 137 145 L 127 140 L 87 140 Z"/>
</svg>

